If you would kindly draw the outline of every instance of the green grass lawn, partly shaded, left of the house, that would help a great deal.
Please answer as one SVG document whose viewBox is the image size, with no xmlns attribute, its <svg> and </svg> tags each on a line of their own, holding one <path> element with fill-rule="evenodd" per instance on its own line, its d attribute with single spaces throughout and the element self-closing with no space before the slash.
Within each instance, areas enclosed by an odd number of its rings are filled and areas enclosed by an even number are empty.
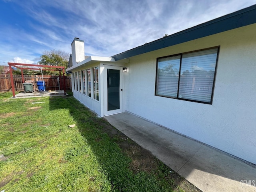
<svg viewBox="0 0 256 192">
<path fill-rule="evenodd" d="M 73 96 L 11 96 L 0 93 L 0 191 L 183 191 L 161 162 L 132 171 L 118 139 Z"/>
</svg>

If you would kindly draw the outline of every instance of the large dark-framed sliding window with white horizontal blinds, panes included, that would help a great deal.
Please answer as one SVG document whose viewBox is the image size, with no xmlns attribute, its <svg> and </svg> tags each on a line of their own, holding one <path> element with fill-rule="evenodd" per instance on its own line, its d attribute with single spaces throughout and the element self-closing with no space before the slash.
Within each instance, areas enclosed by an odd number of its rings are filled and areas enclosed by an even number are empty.
<svg viewBox="0 0 256 192">
<path fill-rule="evenodd" d="M 157 59 L 156 95 L 212 104 L 219 48 Z"/>
</svg>

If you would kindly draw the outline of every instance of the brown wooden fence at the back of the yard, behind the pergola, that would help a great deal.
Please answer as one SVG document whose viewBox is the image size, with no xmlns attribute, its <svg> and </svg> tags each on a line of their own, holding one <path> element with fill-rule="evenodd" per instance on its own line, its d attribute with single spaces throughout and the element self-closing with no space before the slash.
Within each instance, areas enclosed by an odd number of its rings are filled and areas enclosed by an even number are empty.
<svg viewBox="0 0 256 192">
<path fill-rule="evenodd" d="M 51 75 L 44 75 L 44 81 L 46 90 L 60 90 L 64 89 L 63 87 L 63 76 L 51 76 Z M 34 81 L 34 89 L 37 90 L 36 82 L 42 81 L 42 76 L 38 75 L 24 75 L 24 80 L 32 80 Z M 14 89 L 16 91 L 23 91 L 23 83 L 22 83 L 22 76 L 21 75 L 13 75 L 14 81 Z M 65 76 L 65 83 L 66 89 L 72 89 L 71 77 Z M 12 90 L 11 84 L 11 77 L 9 74 L 0 74 L 0 92 L 3 91 L 10 91 Z"/>
</svg>

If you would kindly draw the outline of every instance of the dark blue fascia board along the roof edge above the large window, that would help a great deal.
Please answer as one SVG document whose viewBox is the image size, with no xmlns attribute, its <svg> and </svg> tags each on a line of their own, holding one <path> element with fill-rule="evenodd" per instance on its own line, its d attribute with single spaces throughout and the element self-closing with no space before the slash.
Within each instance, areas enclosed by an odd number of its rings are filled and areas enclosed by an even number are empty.
<svg viewBox="0 0 256 192">
<path fill-rule="evenodd" d="M 199 24 L 192 28 L 177 32 L 170 36 L 146 43 L 142 46 L 138 46 L 120 54 L 116 54 L 112 57 L 114 57 L 116 61 L 124 58 L 130 58 L 139 54 L 144 54 L 150 51 L 166 48 L 254 23 L 256 23 L 256 4 L 214 20 Z"/>
</svg>

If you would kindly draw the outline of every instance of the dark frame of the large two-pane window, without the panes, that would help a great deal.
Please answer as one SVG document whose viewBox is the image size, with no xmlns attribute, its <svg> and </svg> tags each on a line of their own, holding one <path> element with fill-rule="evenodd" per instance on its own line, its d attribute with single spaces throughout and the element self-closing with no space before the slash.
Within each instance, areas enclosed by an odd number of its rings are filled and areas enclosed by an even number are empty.
<svg viewBox="0 0 256 192">
<path fill-rule="evenodd" d="M 217 49 L 217 56 L 216 56 L 216 63 L 215 63 L 214 78 L 213 78 L 213 83 L 212 83 L 212 93 L 211 93 L 210 102 L 192 100 L 192 99 L 187 99 L 187 98 L 179 98 L 178 95 L 179 95 L 179 89 L 180 89 L 180 74 L 181 74 L 181 70 L 180 69 L 181 69 L 181 66 L 182 66 L 182 56 L 184 54 L 189 54 L 189 53 L 193 53 L 193 52 L 200 52 L 200 51 L 204 51 L 204 50 L 211 50 L 211 49 Z M 218 66 L 219 52 L 220 52 L 220 46 L 214 46 L 214 47 L 210 47 L 210 48 L 194 50 L 194 51 L 190 51 L 190 52 L 183 52 L 183 53 L 179 53 L 179 54 L 173 54 L 173 55 L 168 55 L 168 56 L 163 56 L 163 57 L 156 58 L 155 96 L 166 97 L 166 98 L 173 98 L 173 99 L 178 99 L 178 100 L 185 100 L 185 101 L 190 101 L 190 102 L 204 103 L 204 104 L 212 104 L 213 96 L 214 96 L 214 87 L 215 87 L 215 80 L 216 80 L 216 72 L 217 72 L 217 66 Z M 180 56 L 177 96 L 173 97 L 173 96 L 159 95 L 159 94 L 157 94 L 157 91 L 158 91 L 158 61 L 160 59 L 162 59 L 162 58 L 168 58 L 168 57 L 174 57 L 174 56 Z"/>
</svg>

